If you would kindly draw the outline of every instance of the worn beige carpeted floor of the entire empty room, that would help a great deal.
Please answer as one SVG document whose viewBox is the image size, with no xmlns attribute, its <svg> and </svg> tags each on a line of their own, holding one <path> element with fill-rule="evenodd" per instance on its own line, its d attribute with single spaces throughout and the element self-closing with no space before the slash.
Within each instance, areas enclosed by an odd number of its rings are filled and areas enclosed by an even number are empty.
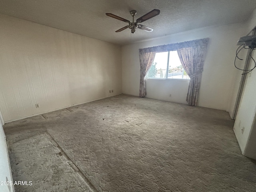
<svg viewBox="0 0 256 192">
<path fill-rule="evenodd" d="M 15 190 L 256 191 L 227 112 L 118 95 L 4 125 Z"/>
</svg>

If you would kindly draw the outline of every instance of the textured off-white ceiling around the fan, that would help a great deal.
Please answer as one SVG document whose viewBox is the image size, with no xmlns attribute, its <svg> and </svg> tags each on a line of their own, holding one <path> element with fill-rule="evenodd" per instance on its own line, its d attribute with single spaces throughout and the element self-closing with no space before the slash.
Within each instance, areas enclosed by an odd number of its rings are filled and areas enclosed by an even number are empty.
<svg viewBox="0 0 256 192">
<path fill-rule="evenodd" d="M 115 44 L 174 34 L 212 25 L 242 22 L 256 8 L 256 0 L 0 0 L 0 13 Z M 153 32 L 130 29 L 108 17 L 112 13 L 132 20 L 159 9 L 160 15 L 143 22 Z"/>
</svg>

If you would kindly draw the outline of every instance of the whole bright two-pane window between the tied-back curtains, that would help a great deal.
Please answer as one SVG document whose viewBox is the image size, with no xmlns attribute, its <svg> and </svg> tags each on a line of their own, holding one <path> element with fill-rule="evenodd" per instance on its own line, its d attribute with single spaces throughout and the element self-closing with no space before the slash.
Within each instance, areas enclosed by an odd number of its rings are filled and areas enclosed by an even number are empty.
<svg viewBox="0 0 256 192">
<path fill-rule="evenodd" d="M 177 51 L 156 53 L 146 78 L 190 79 L 180 63 Z"/>
</svg>

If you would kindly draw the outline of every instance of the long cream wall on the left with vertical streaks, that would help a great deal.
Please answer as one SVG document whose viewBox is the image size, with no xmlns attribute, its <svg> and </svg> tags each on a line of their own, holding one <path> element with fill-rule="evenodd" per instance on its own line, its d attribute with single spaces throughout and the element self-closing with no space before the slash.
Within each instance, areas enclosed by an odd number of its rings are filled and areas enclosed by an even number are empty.
<svg viewBox="0 0 256 192">
<path fill-rule="evenodd" d="M 122 93 L 120 46 L 3 14 L 0 26 L 4 122 Z"/>
</svg>

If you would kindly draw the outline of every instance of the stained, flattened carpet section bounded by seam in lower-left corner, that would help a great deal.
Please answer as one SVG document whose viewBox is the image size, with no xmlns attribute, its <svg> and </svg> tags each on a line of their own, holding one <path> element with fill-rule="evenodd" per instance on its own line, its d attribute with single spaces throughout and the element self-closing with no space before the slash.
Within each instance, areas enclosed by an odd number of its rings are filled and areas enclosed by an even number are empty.
<svg viewBox="0 0 256 192">
<path fill-rule="evenodd" d="M 56 146 L 46 133 L 10 146 L 13 180 L 25 182 L 14 186 L 16 192 L 92 192 L 76 166 Z"/>
</svg>

